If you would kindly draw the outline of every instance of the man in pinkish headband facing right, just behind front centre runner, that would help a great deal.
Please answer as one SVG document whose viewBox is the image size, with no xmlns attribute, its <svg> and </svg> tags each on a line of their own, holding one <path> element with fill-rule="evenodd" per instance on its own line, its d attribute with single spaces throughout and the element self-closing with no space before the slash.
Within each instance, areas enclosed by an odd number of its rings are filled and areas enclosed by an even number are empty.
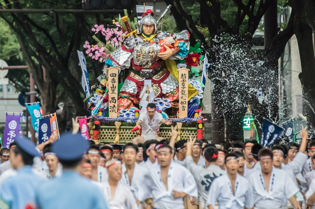
<svg viewBox="0 0 315 209">
<path fill-rule="evenodd" d="M 152 164 L 156 163 L 157 153 L 155 152 L 155 145 L 158 143 L 157 140 L 149 140 L 143 144 L 143 161 L 139 163 L 140 166 L 146 169 Z"/>
</svg>

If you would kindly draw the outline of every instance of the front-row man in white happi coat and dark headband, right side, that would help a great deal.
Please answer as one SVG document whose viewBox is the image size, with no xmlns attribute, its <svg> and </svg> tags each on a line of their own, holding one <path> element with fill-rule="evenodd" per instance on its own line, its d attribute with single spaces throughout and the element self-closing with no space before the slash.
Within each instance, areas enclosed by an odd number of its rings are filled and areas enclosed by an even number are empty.
<svg viewBox="0 0 315 209">
<path fill-rule="evenodd" d="M 261 170 L 255 170 L 249 177 L 253 186 L 255 209 L 282 209 L 289 200 L 295 209 L 301 209 L 295 194 L 299 188 L 289 175 L 273 167 L 273 153 L 270 149 L 261 149 L 258 153 Z"/>
</svg>

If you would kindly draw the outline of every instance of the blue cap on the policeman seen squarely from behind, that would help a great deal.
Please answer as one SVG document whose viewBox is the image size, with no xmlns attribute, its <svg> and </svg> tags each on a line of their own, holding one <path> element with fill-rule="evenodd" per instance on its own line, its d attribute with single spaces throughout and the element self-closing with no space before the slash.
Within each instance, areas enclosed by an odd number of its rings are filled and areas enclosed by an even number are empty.
<svg viewBox="0 0 315 209">
<path fill-rule="evenodd" d="M 71 161 L 82 158 L 88 147 L 89 141 L 81 134 L 66 133 L 61 135 L 60 140 L 54 142 L 52 151 L 56 153 L 57 158 Z"/>
</svg>

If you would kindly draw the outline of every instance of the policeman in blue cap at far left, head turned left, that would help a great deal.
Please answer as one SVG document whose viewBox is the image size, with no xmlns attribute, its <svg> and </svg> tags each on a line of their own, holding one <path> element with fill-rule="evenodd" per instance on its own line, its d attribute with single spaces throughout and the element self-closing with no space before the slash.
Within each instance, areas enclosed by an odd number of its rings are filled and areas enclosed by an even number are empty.
<svg viewBox="0 0 315 209">
<path fill-rule="evenodd" d="M 20 209 L 35 203 L 35 189 L 45 182 L 32 171 L 33 158 L 39 155 L 35 145 L 25 137 L 17 138 L 15 142 L 10 163 L 17 170 L 17 175 L 2 183 L 0 208 Z"/>
</svg>

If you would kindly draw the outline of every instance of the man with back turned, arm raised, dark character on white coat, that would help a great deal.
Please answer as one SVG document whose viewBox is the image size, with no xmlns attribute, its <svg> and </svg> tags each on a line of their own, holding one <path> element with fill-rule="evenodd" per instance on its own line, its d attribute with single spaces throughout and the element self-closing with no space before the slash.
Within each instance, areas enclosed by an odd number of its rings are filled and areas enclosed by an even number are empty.
<svg viewBox="0 0 315 209">
<path fill-rule="evenodd" d="M 186 163 L 188 170 L 194 176 L 198 185 L 199 195 L 199 208 L 207 208 L 205 204 L 208 198 L 208 193 L 213 180 L 223 174 L 226 174 L 225 170 L 222 170 L 217 165 L 218 150 L 216 147 L 206 147 L 204 149 L 204 158 L 206 159 L 205 168 L 196 165 L 192 159 L 192 146 L 195 144 L 194 139 L 187 142 Z M 197 202 L 198 203 L 198 202 Z"/>
</svg>

